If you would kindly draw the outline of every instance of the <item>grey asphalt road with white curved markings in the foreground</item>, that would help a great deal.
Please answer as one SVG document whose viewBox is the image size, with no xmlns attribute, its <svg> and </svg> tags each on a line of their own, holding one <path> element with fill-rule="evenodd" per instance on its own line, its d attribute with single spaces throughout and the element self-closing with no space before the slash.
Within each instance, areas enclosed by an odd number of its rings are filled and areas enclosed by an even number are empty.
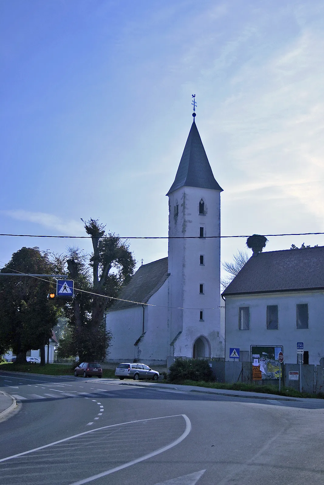
<svg viewBox="0 0 324 485">
<path fill-rule="evenodd" d="M 0 484 L 324 483 L 324 402 L 252 400 L 0 373 Z"/>
</svg>

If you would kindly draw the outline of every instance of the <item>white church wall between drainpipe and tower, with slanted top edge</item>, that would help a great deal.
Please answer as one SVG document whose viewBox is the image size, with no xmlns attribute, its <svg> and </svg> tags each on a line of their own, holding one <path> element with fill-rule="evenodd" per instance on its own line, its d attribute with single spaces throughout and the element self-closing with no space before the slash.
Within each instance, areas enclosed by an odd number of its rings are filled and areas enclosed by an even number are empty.
<svg viewBox="0 0 324 485">
<path fill-rule="evenodd" d="M 168 349 L 168 280 L 144 306 L 145 335 L 137 345 L 137 359 L 147 365 L 166 365 Z"/>
</svg>

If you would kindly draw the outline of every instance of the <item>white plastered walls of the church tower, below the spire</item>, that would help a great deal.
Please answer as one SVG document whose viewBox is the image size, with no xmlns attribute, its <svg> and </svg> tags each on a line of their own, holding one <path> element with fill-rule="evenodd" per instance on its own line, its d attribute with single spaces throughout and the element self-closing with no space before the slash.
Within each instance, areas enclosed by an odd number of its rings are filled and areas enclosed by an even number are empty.
<svg viewBox="0 0 324 485">
<path fill-rule="evenodd" d="M 199 202 L 205 202 L 205 214 L 199 214 Z M 178 204 L 178 216 L 174 206 Z M 220 191 L 182 187 L 169 200 L 169 235 L 205 236 L 220 234 Z M 204 265 L 200 264 L 204 256 Z M 224 355 L 220 322 L 220 239 L 169 239 L 169 342 L 170 355 L 193 355 L 196 339 L 203 337 L 206 357 Z M 199 285 L 204 285 L 200 294 Z M 200 311 L 204 312 L 200 321 Z M 178 335 L 181 332 L 180 335 Z M 175 337 L 178 338 L 174 341 Z"/>
</svg>

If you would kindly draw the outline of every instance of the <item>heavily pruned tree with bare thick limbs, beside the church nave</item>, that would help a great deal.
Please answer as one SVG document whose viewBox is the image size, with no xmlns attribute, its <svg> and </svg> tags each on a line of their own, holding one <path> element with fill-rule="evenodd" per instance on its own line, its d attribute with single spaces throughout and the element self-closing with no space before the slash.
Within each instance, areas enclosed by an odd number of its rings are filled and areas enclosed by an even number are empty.
<svg viewBox="0 0 324 485">
<path fill-rule="evenodd" d="M 75 298 L 65 307 L 70 324 L 60 340 L 59 356 L 103 360 L 112 338 L 105 329 L 104 312 L 128 283 L 136 261 L 128 244 L 115 234 L 106 234 L 98 220 L 83 222 L 93 253 L 69 249 L 68 274 L 74 280 Z"/>
</svg>

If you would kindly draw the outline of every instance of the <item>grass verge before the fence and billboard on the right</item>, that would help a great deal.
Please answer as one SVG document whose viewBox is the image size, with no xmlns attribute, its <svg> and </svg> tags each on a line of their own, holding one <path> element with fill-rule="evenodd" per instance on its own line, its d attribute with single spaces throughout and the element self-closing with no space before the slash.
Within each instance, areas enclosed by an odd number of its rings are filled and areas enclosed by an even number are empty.
<svg viewBox="0 0 324 485">
<path fill-rule="evenodd" d="M 255 384 L 246 384 L 243 382 L 236 382 L 233 384 L 226 384 L 221 382 L 196 382 L 196 381 L 173 381 L 170 384 L 182 385 L 182 386 L 197 386 L 201 388 L 210 389 L 224 389 L 233 391 L 246 391 L 246 392 L 259 392 L 263 394 L 276 394 L 278 396 L 288 396 L 288 397 L 303 397 L 303 398 L 313 398 L 313 399 L 324 399 L 324 393 L 319 392 L 318 394 L 310 394 L 309 392 L 299 392 L 293 388 L 281 387 L 279 389 L 273 385 L 262 385 L 257 386 Z"/>
</svg>

